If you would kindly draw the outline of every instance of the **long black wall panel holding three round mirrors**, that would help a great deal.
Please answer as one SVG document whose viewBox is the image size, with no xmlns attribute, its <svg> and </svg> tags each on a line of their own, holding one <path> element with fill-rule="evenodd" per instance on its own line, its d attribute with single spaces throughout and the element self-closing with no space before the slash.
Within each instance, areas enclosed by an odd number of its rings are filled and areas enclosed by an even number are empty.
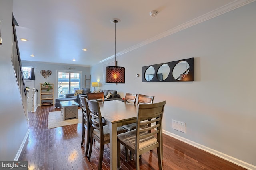
<svg viewBox="0 0 256 170">
<path fill-rule="evenodd" d="M 194 58 L 142 67 L 142 82 L 194 81 Z"/>
</svg>

